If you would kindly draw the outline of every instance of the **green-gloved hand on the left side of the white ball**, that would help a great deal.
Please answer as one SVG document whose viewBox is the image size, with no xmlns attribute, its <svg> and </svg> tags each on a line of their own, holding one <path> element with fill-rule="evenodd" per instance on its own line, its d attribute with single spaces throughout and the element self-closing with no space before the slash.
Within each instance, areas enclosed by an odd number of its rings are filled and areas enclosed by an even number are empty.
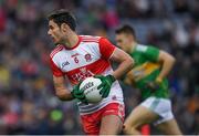
<svg viewBox="0 0 199 136">
<path fill-rule="evenodd" d="M 83 92 L 82 90 L 80 90 L 81 83 L 82 83 L 82 82 L 80 82 L 78 84 L 76 84 L 76 85 L 73 86 L 73 90 L 72 90 L 71 94 L 72 94 L 72 96 L 73 96 L 74 98 L 77 98 L 78 101 L 81 101 L 81 102 L 83 102 L 83 103 L 85 103 L 85 104 L 88 104 L 88 103 L 87 103 L 87 100 L 86 100 L 86 97 L 85 97 L 85 95 L 84 95 L 84 92 Z"/>
</svg>

